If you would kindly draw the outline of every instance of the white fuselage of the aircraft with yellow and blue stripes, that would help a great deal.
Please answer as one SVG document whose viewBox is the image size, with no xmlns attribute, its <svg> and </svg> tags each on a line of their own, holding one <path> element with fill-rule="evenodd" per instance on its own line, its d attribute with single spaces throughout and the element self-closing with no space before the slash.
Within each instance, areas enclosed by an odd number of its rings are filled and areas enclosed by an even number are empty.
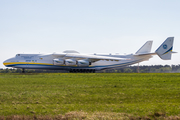
<svg viewBox="0 0 180 120">
<path fill-rule="evenodd" d="M 68 53 L 67 53 L 68 54 Z M 74 54 L 76 55 L 76 54 Z M 54 54 L 42 55 L 42 54 L 17 54 L 15 57 L 10 58 L 4 61 L 4 65 L 6 67 L 13 68 L 24 68 L 24 69 L 53 69 L 53 70 L 70 70 L 70 69 L 94 69 L 94 70 L 102 70 L 109 68 L 120 68 L 128 65 L 132 65 L 135 63 L 139 63 L 145 60 L 149 60 L 151 55 L 136 57 L 134 55 L 95 55 L 95 56 L 103 56 L 103 57 L 113 57 L 118 58 L 120 60 L 98 60 L 92 62 L 91 64 L 82 66 L 78 65 L 77 62 L 80 61 L 79 58 L 71 58 L 75 61 L 75 64 L 67 65 L 64 64 L 55 64 L 54 60 L 57 59 L 57 56 Z M 60 59 L 67 60 L 69 58 L 59 57 Z"/>
</svg>

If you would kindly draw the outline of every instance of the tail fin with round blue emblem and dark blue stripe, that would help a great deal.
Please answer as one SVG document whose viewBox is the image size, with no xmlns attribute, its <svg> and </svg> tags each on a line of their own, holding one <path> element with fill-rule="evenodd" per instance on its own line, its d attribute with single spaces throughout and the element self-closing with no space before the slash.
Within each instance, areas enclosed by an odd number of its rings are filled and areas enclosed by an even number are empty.
<svg viewBox="0 0 180 120">
<path fill-rule="evenodd" d="M 168 37 L 156 50 L 156 54 L 163 60 L 171 60 L 174 37 Z"/>
</svg>

